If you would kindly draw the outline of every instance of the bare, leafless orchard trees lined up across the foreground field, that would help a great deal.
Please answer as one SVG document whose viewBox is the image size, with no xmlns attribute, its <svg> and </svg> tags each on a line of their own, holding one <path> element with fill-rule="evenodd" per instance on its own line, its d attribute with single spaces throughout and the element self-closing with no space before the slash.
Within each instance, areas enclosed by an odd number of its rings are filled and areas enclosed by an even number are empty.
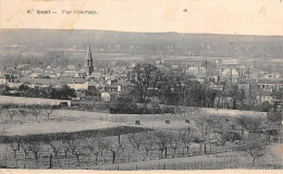
<svg viewBox="0 0 283 174">
<path fill-rule="evenodd" d="M 116 162 L 116 158 L 122 153 L 128 152 L 131 149 L 133 153 L 137 151 L 145 151 L 146 157 L 150 151 L 159 151 L 160 158 L 176 157 L 176 150 L 183 149 L 183 157 L 189 156 L 189 149 L 193 144 L 199 145 L 199 154 L 202 152 L 202 147 L 212 144 L 212 138 L 196 136 L 190 129 L 187 130 L 155 130 L 144 132 L 136 134 L 128 134 L 124 137 L 124 140 L 120 140 L 120 137 L 103 137 L 102 135 L 96 135 L 91 137 L 71 137 L 70 139 L 52 139 L 47 138 L 44 141 L 17 139 L 11 142 L 11 149 L 13 150 L 13 157 L 17 165 L 17 153 L 21 150 L 24 152 L 24 167 L 26 165 L 26 159 L 33 157 L 36 160 L 36 166 L 38 161 L 44 156 L 49 156 L 50 160 L 69 159 L 71 157 L 76 158 L 77 165 L 81 165 L 81 158 L 88 157 L 94 161 L 95 165 L 98 165 L 99 158 L 111 156 L 112 163 Z M 221 141 L 227 141 L 226 137 L 222 137 Z M 230 139 L 231 140 L 231 139 Z M 250 134 L 243 139 L 244 146 L 242 150 L 246 151 L 253 158 L 253 165 L 255 161 L 266 153 L 267 141 L 260 134 Z M 224 144 L 223 144 L 224 145 Z M 223 146 L 224 147 L 224 146 Z M 51 149 L 49 152 L 47 149 Z M 170 149 L 170 154 L 169 154 Z M 184 150 L 186 149 L 186 150 Z M 236 150 L 236 149 L 234 149 Z M 211 151 L 210 151 L 211 152 Z M 224 152 L 224 150 L 223 150 Z M 195 154 L 193 154 L 195 156 Z M 101 159 L 102 160 L 102 159 Z M 50 166 L 52 162 L 50 161 Z"/>
</svg>

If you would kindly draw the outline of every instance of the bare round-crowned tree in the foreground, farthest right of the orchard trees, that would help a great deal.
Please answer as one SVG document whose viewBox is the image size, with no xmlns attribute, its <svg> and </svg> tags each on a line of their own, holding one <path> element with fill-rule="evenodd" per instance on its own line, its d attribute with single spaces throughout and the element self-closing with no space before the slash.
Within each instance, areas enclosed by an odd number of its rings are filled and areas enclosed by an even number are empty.
<svg viewBox="0 0 283 174">
<path fill-rule="evenodd" d="M 259 134 L 249 134 L 245 142 L 244 150 L 253 158 L 253 165 L 255 165 L 256 160 L 266 153 L 266 138 Z"/>
</svg>

